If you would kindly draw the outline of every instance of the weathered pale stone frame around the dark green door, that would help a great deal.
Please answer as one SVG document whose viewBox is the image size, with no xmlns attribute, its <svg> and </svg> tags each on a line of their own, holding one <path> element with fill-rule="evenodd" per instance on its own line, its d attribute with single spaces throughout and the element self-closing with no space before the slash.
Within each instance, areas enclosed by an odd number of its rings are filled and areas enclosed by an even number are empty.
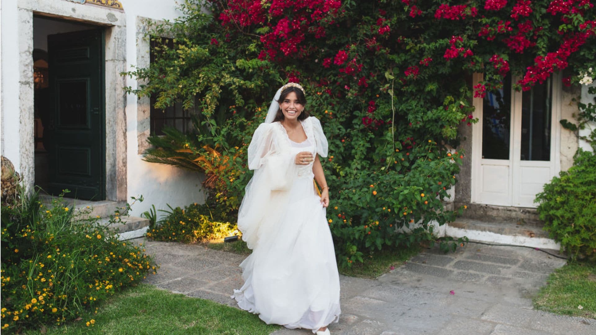
<svg viewBox="0 0 596 335">
<path fill-rule="evenodd" d="M 18 11 L 18 110 L 21 175 L 27 190 L 35 181 L 33 139 L 33 15 L 61 18 L 105 30 L 105 196 L 126 200 L 126 15 L 122 11 L 69 1 L 20 0 Z"/>
</svg>

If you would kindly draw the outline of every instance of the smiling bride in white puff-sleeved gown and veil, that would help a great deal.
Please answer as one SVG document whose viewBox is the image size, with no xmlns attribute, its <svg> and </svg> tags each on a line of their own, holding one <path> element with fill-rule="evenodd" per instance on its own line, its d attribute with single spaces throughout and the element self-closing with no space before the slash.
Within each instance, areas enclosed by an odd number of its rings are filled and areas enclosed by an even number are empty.
<svg viewBox="0 0 596 335">
<path fill-rule="evenodd" d="M 328 335 L 341 311 L 325 218 L 329 187 L 319 161 L 327 157 L 327 139 L 305 104 L 302 86 L 287 83 L 254 131 L 248 154 L 255 171 L 238 212 L 242 239 L 253 252 L 240 264 L 244 285 L 232 298 L 267 324 Z"/>
</svg>

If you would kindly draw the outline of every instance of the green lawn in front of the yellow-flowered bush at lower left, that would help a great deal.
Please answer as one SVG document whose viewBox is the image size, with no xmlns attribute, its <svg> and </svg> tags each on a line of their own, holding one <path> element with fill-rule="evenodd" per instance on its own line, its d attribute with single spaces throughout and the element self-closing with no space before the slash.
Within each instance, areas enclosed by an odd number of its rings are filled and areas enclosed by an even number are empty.
<svg viewBox="0 0 596 335">
<path fill-rule="evenodd" d="M 86 322 L 95 320 L 87 326 Z M 105 301 L 97 314 L 50 327 L 46 334 L 269 334 L 277 325 L 209 300 L 170 293 L 147 284 Z M 27 330 L 24 334 L 42 334 Z"/>
</svg>

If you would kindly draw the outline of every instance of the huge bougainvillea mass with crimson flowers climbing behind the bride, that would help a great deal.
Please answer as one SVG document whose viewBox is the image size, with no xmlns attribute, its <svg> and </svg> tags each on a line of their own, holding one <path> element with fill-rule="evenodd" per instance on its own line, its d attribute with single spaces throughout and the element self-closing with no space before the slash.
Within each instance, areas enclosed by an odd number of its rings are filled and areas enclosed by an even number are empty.
<svg viewBox="0 0 596 335">
<path fill-rule="evenodd" d="M 175 46 L 129 72 L 145 82 L 129 92 L 154 95 L 157 108 L 183 101 L 198 134 L 170 129 L 146 159 L 206 172 L 233 216 L 250 178 L 250 135 L 277 88 L 299 82 L 330 143 L 328 223 L 344 265 L 434 240 L 429 223 L 455 218 L 442 200 L 468 159 L 457 129 L 476 122 L 473 97 L 507 75 L 516 89 L 559 71 L 573 85 L 595 63 L 596 10 L 585 0 L 190 0 L 180 9 L 151 32 Z M 474 72 L 484 73 L 476 85 Z"/>
</svg>

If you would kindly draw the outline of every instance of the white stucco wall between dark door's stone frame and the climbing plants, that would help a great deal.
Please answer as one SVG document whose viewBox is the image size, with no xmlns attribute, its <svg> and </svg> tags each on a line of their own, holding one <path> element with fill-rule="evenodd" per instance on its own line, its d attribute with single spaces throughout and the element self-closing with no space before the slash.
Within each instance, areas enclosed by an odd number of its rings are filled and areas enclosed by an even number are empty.
<svg viewBox="0 0 596 335">
<path fill-rule="evenodd" d="M 148 17 L 157 20 L 173 20 L 181 13 L 175 10 L 175 1 L 151 2 L 143 0 L 122 1 L 126 13 L 126 60 L 128 69 L 136 65 L 136 20 L 138 17 Z M 136 80 L 127 78 L 126 85 L 136 88 Z M 128 95 L 126 99 L 126 138 L 128 155 L 128 195 L 145 198 L 133 207 L 133 215 L 148 210 L 151 204 L 157 209 L 167 209 L 166 204 L 173 207 L 204 201 L 202 176 L 172 166 L 147 163 L 138 154 L 138 119 L 137 99 L 135 95 Z"/>
</svg>

